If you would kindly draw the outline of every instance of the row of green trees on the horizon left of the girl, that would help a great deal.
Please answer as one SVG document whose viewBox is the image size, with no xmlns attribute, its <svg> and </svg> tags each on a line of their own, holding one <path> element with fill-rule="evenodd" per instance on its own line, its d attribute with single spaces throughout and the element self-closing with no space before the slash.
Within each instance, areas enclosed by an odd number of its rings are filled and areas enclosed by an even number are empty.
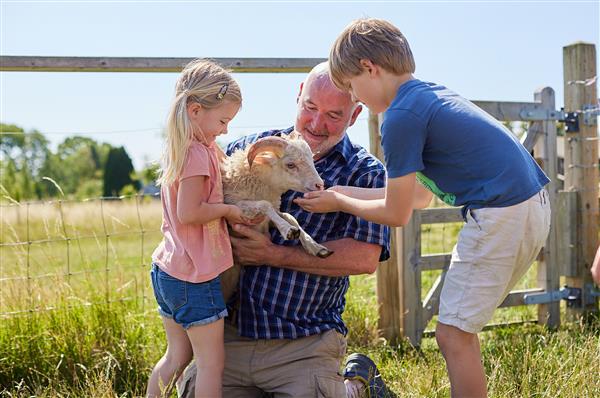
<svg viewBox="0 0 600 398">
<path fill-rule="evenodd" d="M 119 196 L 152 183 L 155 167 L 136 173 L 125 148 L 72 136 L 55 151 L 39 131 L 0 123 L 0 189 L 15 201 Z"/>
</svg>

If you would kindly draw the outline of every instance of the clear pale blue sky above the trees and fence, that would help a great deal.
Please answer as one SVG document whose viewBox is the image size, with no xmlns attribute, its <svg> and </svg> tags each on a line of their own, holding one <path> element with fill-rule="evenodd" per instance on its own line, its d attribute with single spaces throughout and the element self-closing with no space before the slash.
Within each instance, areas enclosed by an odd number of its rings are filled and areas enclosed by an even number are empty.
<svg viewBox="0 0 600 398">
<path fill-rule="evenodd" d="M 403 31 L 416 76 L 469 99 L 563 103 L 562 47 L 598 46 L 596 1 L 0 1 L 0 53 L 40 56 L 327 57 L 353 19 Z M 243 109 L 225 141 L 293 124 L 303 74 L 235 74 Z M 124 145 L 140 168 L 161 151 L 175 73 L 0 73 L 0 119 L 53 145 L 72 134 Z M 368 145 L 367 113 L 350 137 Z"/>
</svg>

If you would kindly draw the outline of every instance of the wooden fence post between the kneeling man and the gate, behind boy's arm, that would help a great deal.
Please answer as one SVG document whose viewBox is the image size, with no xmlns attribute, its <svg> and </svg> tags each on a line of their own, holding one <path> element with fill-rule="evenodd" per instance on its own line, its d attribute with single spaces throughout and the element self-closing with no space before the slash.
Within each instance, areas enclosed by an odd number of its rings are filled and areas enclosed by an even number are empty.
<svg viewBox="0 0 600 398">
<path fill-rule="evenodd" d="M 371 153 L 382 162 L 381 117 L 369 111 L 369 144 Z M 392 344 L 400 341 L 400 273 L 397 228 L 390 230 L 390 258 L 377 267 L 377 305 L 379 310 L 378 329 L 382 337 Z"/>
</svg>

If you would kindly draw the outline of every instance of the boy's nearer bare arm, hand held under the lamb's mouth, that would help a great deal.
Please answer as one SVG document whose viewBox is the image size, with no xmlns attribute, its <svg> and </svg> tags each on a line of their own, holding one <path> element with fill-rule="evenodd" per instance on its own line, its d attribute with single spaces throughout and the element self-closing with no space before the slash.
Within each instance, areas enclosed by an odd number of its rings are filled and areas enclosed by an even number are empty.
<svg viewBox="0 0 600 398">
<path fill-rule="evenodd" d="M 294 199 L 294 202 L 307 211 L 343 211 L 377 224 L 399 227 L 406 225 L 412 214 L 415 185 L 415 173 L 410 173 L 402 177 L 388 178 L 383 198 L 357 199 L 327 190 L 309 192 L 304 198 Z"/>
</svg>

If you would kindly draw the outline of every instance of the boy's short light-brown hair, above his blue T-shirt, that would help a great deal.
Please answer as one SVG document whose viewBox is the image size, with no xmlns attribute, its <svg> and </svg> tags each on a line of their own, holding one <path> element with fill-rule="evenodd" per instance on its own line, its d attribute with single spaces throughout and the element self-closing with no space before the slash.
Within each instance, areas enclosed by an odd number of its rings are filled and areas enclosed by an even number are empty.
<svg viewBox="0 0 600 398">
<path fill-rule="evenodd" d="M 329 68 L 331 80 L 338 88 L 348 90 L 344 80 L 363 72 L 361 59 L 370 60 L 396 75 L 415 71 L 408 41 L 397 27 L 383 19 L 357 19 L 333 43 Z"/>
</svg>

